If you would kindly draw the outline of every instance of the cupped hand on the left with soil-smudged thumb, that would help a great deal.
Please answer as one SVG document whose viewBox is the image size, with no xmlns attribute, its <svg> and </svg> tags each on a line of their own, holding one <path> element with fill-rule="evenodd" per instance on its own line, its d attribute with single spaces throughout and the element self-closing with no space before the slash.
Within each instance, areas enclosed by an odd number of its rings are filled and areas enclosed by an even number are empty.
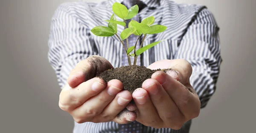
<svg viewBox="0 0 256 133">
<path fill-rule="evenodd" d="M 122 90 L 122 82 L 114 79 L 105 83 L 100 78 L 93 78 L 111 68 L 109 61 L 97 55 L 80 61 L 60 93 L 59 107 L 70 113 L 77 123 L 114 121 L 126 124 L 135 121 L 134 112 L 117 117 L 132 100 L 131 93 Z"/>
</svg>

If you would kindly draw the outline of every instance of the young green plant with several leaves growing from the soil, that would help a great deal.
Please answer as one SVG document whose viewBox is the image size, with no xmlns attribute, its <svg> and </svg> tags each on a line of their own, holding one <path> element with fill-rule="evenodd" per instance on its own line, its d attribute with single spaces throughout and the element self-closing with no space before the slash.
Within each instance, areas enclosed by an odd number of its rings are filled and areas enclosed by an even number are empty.
<svg viewBox="0 0 256 133">
<path fill-rule="evenodd" d="M 167 27 L 162 25 L 152 25 L 154 23 L 154 17 L 150 16 L 143 19 L 141 23 L 138 23 L 135 20 L 131 20 L 127 28 L 125 20 L 129 20 L 137 15 L 137 13 L 139 12 L 138 5 L 132 6 L 130 9 L 127 9 L 124 5 L 120 3 L 114 3 L 112 6 L 112 10 L 114 14 L 112 14 L 112 16 L 110 17 L 110 20 L 105 20 L 106 22 L 108 22 L 108 27 L 96 26 L 93 29 L 91 29 L 91 32 L 94 35 L 101 36 L 101 37 L 110 37 L 110 36 L 116 35 L 125 49 L 125 52 L 128 57 L 128 64 L 131 65 L 130 56 L 134 56 L 134 65 L 136 65 L 137 58 L 140 54 L 142 54 L 146 50 L 150 49 L 151 47 L 163 41 L 163 40 L 160 40 L 142 47 L 146 36 L 148 34 L 157 34 L 157 33 L 163 32 L 166 30 Z M 117 21 L 115 14 L 116 16 L 120 17 L 123 21 Z M 117 35 L 117 24 L 124 26 L 124 30 L 121 32 L 120 36 Z M 129 47 L 128 37 L 132 34 L 137 35 L 138 38 L 135 45 Z M 143 40 L 140 43 L 140 48 L 136 50 L 138 40 L 142 35 L 143 35 Z M 124 40 L 126 40 L 126 47 L 123 43 Z M 132 51 L 134 51 L 134 53 L 130 54 Z"/>
</svg>

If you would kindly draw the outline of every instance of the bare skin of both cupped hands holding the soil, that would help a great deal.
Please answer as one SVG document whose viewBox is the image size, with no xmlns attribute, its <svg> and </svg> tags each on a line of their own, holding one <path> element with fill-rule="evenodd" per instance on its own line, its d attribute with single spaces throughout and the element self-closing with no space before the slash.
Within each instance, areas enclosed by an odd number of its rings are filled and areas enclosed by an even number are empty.
<svg viewBox="0 0 256 133">
<path fill-rule="evenodd" d="M 149 69 L 173 70 L 155 72 L 133 94 L 123 90 L 119 80 L 104 83 L 100 78 L 93 78 L 96 72 L 111 68 L 109 61 L 97 55 L 80 61 L 60 93 L 59 107 L 78 123 L 114 121 L 126 124 L 136 120 L 145 126 L 175 130 L 198 117 L 201 103 L 189 83 L 192 67 L 186 60 L 161 60 L 151 64 Z M 129 104 L 132 99 L 136 105 Z M 117 118 L 125 107 L 132 112 Z"/>
</svg>

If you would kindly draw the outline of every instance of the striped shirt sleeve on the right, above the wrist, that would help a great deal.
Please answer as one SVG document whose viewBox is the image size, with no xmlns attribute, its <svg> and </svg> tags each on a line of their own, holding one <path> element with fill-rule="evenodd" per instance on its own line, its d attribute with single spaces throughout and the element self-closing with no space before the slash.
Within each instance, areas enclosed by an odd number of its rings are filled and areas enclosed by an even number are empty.
<svg viewBox="0 0 256 133">
<path fill-rule="evenodd" d="M 218 31 L 212 13 L 202 9 L 193 18 L 176 52 L 175 58 L 183 58 L 192 65 L 190 83 L 198 93 L 201 108 L 206 106 L 216 89 L 222 61 Z"/>
</svg>

